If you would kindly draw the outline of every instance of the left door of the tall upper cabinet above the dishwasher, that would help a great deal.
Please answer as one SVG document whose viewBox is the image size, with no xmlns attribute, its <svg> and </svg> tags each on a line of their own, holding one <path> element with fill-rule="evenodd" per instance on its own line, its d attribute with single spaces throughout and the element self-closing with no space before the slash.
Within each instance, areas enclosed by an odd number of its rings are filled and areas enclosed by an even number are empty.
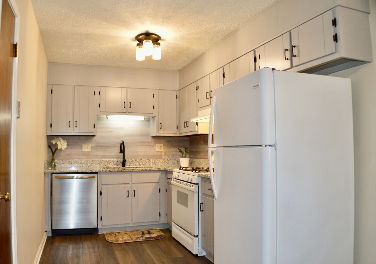
<svg viewBox="0 0 376 264">
<path fill-rule="evenodd" d="M 52 132 L 73 131 L 73 86 L 52 86 Z"/>
</svg>

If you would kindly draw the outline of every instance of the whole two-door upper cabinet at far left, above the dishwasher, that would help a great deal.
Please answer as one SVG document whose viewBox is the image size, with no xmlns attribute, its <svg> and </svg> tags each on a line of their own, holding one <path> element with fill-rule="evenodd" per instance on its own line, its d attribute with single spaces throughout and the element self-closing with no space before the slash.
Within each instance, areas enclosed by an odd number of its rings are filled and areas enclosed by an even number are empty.
<svg viewBox="0 0 376 264">
<path fill-rule="evenodd" d="M 47 135 L 96 135 L 97 89 L 47 85 Z"/>
</svg>

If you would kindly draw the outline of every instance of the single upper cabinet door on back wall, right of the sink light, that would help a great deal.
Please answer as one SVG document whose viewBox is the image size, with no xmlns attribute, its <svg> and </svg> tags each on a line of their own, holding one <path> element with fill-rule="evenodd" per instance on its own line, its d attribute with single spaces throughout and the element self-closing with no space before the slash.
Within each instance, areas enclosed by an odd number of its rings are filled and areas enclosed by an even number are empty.
<svg viewBox="0 0 376 264">
<path fill-rule="evenodd" d="M 158 91 L 159 133 L 177 133 L 176 101 L 176 91 Z"/>
</svg>

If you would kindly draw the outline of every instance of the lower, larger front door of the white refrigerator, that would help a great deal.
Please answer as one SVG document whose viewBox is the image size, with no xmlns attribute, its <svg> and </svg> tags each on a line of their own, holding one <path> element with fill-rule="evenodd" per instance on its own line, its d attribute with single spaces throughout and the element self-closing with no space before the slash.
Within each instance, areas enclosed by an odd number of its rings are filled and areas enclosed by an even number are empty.
<svg viewBox="0 0 376 264">
<path fill-rule="evenodd" d="M 214 163 L 215 263 L 274 263 L 274 148 L 217 149 Z"/>
</svg>

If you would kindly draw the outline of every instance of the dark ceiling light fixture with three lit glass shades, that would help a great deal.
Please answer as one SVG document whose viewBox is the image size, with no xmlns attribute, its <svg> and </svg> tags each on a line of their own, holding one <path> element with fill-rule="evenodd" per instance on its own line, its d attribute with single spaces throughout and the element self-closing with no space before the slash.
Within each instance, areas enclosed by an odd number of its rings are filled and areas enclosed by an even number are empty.
<svg viewBox="0 0 376 264">
<path fill-rule="evenodd" d="M 161 36 L 155 33 L 141 33 L 135 36 L 136 41 L 136 60 L 144 61 L 145 56 L 153 55 L 153 60 L 161 59 L 161 43 L 158 41 L 161 39 Z"/>
</svg>

